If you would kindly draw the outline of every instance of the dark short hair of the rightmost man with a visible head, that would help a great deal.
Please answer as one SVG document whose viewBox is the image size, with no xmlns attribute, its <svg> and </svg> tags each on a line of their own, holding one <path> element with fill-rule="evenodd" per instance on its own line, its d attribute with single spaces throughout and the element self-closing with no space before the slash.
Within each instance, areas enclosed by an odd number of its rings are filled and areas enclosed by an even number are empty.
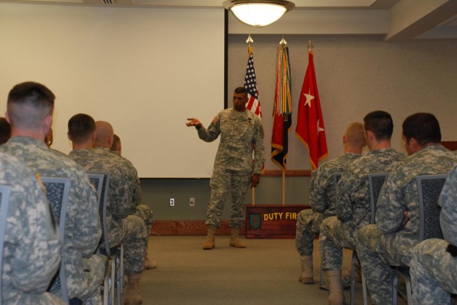
<svg viewBox="0 0 457 305">
<path fill-rule="evenodd" d="M 403 136 L 409 142 L 415 138 L 419 145 L 441 142 L 441 129 L 435 115 L 431 113 L 415 113 L 403 121 Z"/>
</svg>

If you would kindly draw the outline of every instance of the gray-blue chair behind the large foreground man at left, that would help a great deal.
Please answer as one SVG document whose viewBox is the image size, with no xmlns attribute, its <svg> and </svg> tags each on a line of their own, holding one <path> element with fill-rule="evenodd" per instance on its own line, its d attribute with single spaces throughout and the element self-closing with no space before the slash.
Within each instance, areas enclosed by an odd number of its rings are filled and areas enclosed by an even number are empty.
<svg viewBox="0 0 457 305">
<path fill-rule="evenodd" d="M 59 232 L 62 239 L 62 257 L 60 262 L 59 274 L 51 281 L 50 291 L 61 291 L 61 298 L 69 304 L 69 294 L 66 287 L 65 275 L 65 218 L 66 207 L 69 202 L 69 190 L 71 185 L 70 178 L 64 177 L 41 177 L 41 181 L 46 187 L 46 197 L 51 205 L 52 212 L 57 222 L 59 222 Z"/>
</svg>

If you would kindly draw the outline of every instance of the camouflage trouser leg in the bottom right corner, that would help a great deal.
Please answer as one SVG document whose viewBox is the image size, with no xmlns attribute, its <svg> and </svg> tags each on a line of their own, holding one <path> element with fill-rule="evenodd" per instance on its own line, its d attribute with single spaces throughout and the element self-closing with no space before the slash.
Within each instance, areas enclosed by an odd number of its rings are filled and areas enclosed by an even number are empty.
<svg viewBox="0 0 457 305">
<path fill-rule="evenodd" d="M 410 262 L 412 304 L 451 304 L 457 294 L 457 257 L 444 239 L 427 239 L 413 248 Z"/>
</svg>

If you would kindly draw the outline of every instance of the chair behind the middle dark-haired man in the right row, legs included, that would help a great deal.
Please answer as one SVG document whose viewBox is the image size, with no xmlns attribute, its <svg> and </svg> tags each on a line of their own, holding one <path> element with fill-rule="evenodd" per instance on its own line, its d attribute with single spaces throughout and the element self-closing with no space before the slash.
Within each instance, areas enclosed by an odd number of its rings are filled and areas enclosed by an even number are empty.
<svg viewBox="0 0 457 305">
<path fill-rule="evenodd" d="M 368 174 L 368 189 L 370 190 L 370 223 L 375 223 L 376 217 L 376 205 L 378 204 L 379 194 L 383 188 L 384 182 L 388 176 L 388 172 L 376 172 L 373 174 Z M 358 257 L 357 252 L 352 252 L 351 259 L 351 305 L 354 304 L 354 296 L 356 290 L 356 268 L 362 276 L 362 295 L 363 295 L 363 305 L 368 304 L 368 294 L 366 293 L 366 281 L 363 272 L 360 270 L 360 264 L 357 265 Z"/>
</svg>

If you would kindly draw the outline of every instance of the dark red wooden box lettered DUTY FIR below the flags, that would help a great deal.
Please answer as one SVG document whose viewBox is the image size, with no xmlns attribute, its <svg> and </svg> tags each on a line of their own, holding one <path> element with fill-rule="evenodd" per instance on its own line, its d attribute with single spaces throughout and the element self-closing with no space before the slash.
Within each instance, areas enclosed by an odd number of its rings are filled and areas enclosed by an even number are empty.
<svg viewBox="0 0 457 305">
<path fill-rule="evenodd" d="M 297 214 L 309 205 L 246 205 L 246 238 L 294 239 Z"/>
</svg>

